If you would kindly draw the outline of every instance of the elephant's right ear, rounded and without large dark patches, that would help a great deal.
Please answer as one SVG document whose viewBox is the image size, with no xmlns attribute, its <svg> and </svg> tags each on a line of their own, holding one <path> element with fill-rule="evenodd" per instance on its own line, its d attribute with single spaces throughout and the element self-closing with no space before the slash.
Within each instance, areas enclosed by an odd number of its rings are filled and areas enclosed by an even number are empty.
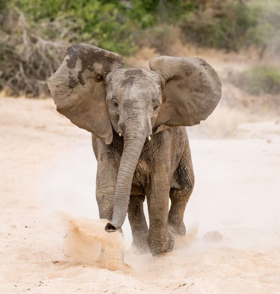
<svg viewBox="0 0 280 294">
<path fill-rule="evenodd" d="M 199 124 L 220 101 L 220 78 L 201 58 L 159 56 L 151 59 L 149 66 L 164 84 L 156 127 Z"/>
</svg>

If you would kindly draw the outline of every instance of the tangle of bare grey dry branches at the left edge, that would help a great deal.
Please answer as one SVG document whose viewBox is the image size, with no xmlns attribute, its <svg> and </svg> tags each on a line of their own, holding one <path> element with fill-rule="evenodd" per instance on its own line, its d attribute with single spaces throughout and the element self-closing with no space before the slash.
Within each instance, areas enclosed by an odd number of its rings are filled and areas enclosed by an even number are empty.
<svg viewBox="0 0 280 294">
<path fill-rule="evenodd" d="M 39 96 L 49 93 L 47 79 L 61 64 L 61 57 L 69 43 L 41 37 L 48 31 L 60 32 L 56 22 L 41 23 L 32 28 L 17 10 L 9 10 L 2 19 L 0 31 L 0 89 L 10 95 Z"/>
</svg>

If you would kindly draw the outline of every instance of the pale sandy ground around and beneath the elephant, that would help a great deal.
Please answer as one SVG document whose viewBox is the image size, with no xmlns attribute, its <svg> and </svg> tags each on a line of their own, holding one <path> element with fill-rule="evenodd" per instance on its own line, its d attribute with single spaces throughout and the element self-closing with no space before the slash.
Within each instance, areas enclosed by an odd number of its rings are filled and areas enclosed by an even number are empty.
<svg viewBox="0 0 280 294">
<path fill-rule="evenodd" d="M 92 261 L 104 231 L 91 220 L 90 134 L 51 99 L 1 98 L 0 128 L 0 293 L 280 293 L 277 121 L 240 124 L 229 139 L 190 132 L 188 236 L 160 258 L 134 255 L 126 220 L 127 265 L 115 270 Z M 119 249 L 114 234 L 105 241 Z"/>
</svg>

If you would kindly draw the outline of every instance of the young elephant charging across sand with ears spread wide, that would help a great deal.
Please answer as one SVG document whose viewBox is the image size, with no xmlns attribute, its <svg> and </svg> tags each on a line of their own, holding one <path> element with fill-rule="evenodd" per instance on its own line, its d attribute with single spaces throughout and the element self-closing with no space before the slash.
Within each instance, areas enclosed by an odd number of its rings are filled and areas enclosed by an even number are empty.
<svg viewBox="0 0 280 294">
<path fill-rule="evenodd" d="M 159 56 L 149 62 L 150 70 L 123 65 L 116 53 L 73 45 L 48 86 L 57 111 L 92 133 L 105 230 L 121 229 L 128 213 L 134 248 L 157 255 L 173 249 L 174 234 L 186 233 L 194 173 L 185 126 L 212 113 L 221 81 L 196 57 Z"/>
</svg>

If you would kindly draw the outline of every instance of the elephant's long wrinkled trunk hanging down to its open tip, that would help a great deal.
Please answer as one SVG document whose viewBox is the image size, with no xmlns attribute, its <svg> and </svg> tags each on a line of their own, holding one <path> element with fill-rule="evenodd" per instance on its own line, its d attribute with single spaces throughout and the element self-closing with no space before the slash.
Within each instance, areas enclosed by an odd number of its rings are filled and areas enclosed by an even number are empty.
<svg viewBox="0 0 280 294">
<path fill-rule="evenodd" d="M 108 221 L 105 230 L 114 232 L 121 228 L 126 218 L 134 171 L 150 128 L 131 125 L 124 131 L 124 149 L 117 177 L 112 221 Z M 147 132 L 148 131 L 148 132 Z"/>
</svg>

